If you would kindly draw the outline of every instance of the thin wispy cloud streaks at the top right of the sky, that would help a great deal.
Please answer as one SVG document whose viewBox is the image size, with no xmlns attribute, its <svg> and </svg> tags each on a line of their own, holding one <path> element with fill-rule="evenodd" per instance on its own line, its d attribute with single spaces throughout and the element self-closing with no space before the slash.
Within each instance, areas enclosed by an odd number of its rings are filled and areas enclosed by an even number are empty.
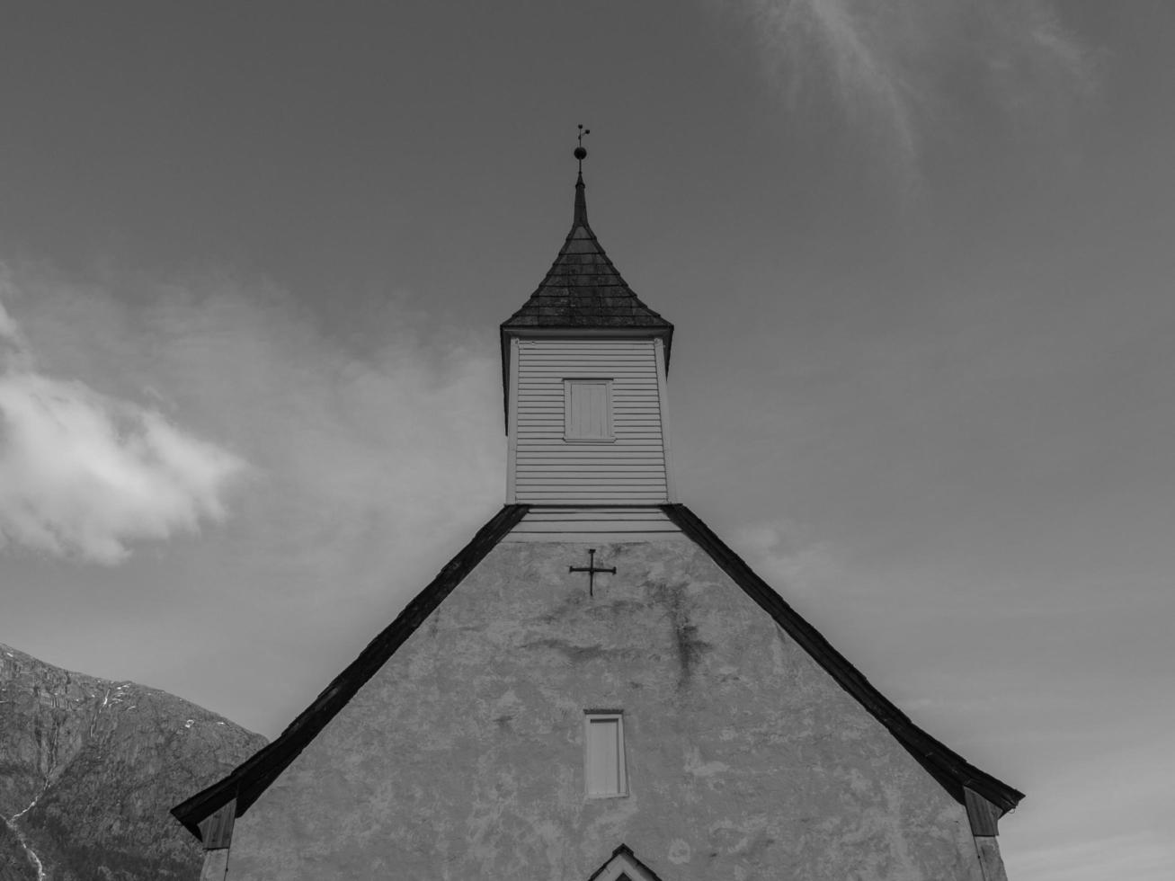
<svg viewBox="0 0 1175 881">
<path fill-rule="evenodd" d="M 727 4 L 727 6 L 732 6 Z M 913 174 L 958 108 L 1052 115 L 1094 89 L 1093 53 L 1054 0 L 737 0 L 788 107 L 831 97 Z"/>
</svg>

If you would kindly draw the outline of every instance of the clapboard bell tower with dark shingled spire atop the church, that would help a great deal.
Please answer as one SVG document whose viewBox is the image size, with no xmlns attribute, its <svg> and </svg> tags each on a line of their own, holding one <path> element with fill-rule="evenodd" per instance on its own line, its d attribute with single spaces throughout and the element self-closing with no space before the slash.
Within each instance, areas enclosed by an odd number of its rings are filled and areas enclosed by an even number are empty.
<svg viewBox="0 0 1175 881">
<path fill-rule="evenodd" d="M 580 135 L 582 137 L 582 135 Z M 665 375 L 673 325 L 620 277 L 588 222 L 576 149 L 571 231 L 502 324 L 508 504 L 651 507 L 676 502 Z M 630 515 L 637 515 L 630 511 Z M 566 536 L 563 539 L 566 540 Z"/>
</svg>

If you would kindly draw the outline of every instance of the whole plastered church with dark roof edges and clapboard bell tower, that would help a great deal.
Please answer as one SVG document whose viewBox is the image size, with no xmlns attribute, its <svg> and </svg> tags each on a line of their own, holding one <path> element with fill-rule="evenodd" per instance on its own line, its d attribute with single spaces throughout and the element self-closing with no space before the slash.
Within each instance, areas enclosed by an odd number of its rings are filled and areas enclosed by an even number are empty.
<svg viewBox="0 0 1175 881">
<path fill-rule="evenodd" d="M 274 742 L 173 808 L 202 881 L 999 881 L 1023 798 L 673 485 L 673 325 L 588 222 L 501 325 L 505 504 Z M 687 352 L 680 357 L 689 357 Z"/>
</svg>

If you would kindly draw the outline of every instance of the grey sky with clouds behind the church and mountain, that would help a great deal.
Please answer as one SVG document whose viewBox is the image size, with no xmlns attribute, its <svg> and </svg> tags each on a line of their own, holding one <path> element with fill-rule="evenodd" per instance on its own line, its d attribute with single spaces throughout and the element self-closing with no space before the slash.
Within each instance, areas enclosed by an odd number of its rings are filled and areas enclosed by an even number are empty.
<svg viewBox="0 0 1175 881">
<path fill-rule="evenodd" d="M 1027 798 L 1175 860 L 1166 0 L 25 5 L 0 641 L 270 738 L 504 500 L 571 221 L 676 324 L 683 502 Z"/>
</svg>

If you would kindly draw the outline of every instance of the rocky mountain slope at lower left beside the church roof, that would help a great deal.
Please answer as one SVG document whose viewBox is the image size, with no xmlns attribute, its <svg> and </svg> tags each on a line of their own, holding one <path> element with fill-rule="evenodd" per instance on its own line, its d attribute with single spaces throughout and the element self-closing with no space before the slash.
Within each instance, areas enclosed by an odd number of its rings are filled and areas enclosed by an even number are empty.
<svg viewBox="0 0 1175 881">
<path fill-rule="evenodd" d="M 202 852 L 168 809 L 264 744 L 174 694 L 0 644 L 0 881 L 196 881 Z"/>
</svg>

